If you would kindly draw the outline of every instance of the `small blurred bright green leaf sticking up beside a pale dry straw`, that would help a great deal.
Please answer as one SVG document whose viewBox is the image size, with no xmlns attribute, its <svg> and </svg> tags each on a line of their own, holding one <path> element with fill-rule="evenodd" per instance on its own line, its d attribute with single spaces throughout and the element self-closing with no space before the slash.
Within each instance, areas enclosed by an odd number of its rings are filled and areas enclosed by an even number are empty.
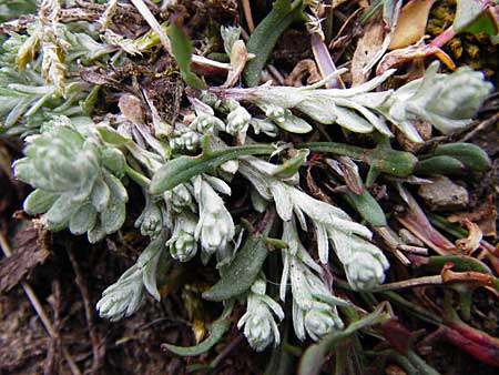
<svg viewBox="0 0 499 375">
<path fill-rule="evenodd" d="M 206 89 L 206 84 L 191 71 L 192 44 L 182 27 L 173 22 L 167 27 L 166 34 L 170 38 L 173 57 L 182 73 L 182 79 L 192 88 Z"/>
</svg>

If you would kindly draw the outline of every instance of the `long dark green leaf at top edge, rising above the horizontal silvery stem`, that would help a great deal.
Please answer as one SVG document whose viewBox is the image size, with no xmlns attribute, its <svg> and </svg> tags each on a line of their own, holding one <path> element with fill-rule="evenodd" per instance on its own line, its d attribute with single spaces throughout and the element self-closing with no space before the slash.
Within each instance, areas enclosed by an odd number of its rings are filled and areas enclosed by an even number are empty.
<svg viewBox="0 0 499 375">
<path fill-rule="evenodd" d="M 259 74 L 268 60 L 275 43 L 281 34 L 297 20 L 302 13 L 302 1 L 277 0 L 272 6 L 271 12 L 258 23 L 247 41 L 248 53 L 255 58 L 246 63 L 243 79 L 248 87 L 258 84 Z"/>
</svg>

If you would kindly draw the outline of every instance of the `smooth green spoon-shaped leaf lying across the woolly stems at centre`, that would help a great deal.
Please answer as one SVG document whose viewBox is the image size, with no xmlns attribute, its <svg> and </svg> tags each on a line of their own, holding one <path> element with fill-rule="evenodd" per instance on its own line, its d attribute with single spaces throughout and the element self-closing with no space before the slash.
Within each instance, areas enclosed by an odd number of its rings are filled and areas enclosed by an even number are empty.
<svg viewBox="0 0 499 375">
<path fill-rule="evenodd" d="M 201 155 L 180 156 L 166 162 L 154 174 L 149 192 L 152 195 L 161 194 L 237 156 L 271 154 L 274 151 L 272 144 L 248 144 L 216 151 L 208 151 L 205 148 Z"/>
</svg>

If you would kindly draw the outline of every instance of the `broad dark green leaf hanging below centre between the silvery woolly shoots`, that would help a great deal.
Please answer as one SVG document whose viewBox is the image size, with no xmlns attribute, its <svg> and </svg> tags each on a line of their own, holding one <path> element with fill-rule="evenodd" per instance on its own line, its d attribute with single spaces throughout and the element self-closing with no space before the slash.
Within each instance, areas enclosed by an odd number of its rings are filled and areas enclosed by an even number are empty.
<svg viewBox="0 0 499 375">
<path fill-rule="evenodd" d="M 251 288 L 262 265 L 267 257 L 265 237 L 249 235 L 243 247 L 236 253 L 232 263 L 225 270 L 222 278 L 208 291 L 203 298 L 208 301 L 226 301 L 243 294 Z"/>
</svg>

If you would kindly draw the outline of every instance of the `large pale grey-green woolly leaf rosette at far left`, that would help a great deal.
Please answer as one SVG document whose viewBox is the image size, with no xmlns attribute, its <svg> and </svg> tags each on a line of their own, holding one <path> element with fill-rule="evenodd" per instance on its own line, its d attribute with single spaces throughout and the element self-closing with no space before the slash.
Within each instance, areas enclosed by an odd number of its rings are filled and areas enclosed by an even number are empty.
<svg viewBox="0 0 499 375">
<path fill-rule="evenodd" d="M 109 163 L 108 149 L 68 124 L 26 142 L 26 158 L 13 165 L 16 176 L 35 189 L 24 201 L 26 212 L 43 214 L 51 231 L 86 233 L 91 243 L 123 225 L 128 194 L 115 174 L 124 163 Z"/>
</svg>

